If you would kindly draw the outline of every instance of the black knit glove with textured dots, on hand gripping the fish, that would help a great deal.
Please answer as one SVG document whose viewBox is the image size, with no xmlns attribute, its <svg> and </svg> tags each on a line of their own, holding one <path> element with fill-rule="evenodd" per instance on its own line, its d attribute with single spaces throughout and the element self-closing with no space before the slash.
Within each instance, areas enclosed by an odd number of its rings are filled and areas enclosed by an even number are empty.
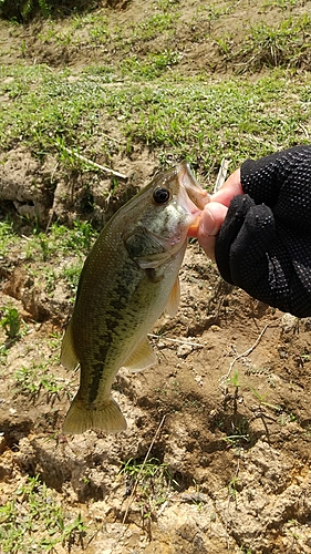
<svg viewBox="0 0 311 554">
<path fill-rule="evenodd" d="M 236 196 L 216 239 L 225 280 L 298 317 L 311 316 L 311 146 L 241 166 Z"/>
</svg>

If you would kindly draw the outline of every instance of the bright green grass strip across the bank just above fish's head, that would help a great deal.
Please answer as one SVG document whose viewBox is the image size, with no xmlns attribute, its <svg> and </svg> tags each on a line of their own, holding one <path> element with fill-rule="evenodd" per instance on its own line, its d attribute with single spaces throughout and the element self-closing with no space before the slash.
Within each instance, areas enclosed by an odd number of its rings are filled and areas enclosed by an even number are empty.
<svg viewBox="0 0 311 554">
<path fill-rule="evenodd" d="M 132 59 L 132 76 L 136 64 L 141 75 L 146 71 Z M 111 88 L 97 73 L 71 82 L 68 72 L 51 74 L 45 66 L 2 68 L 2 76 L 9 75 L 13 79 L 0 93 L 9 98 L 19 90 L 19 96 L 0 115 L 2 148 L 22 138 L 38 156 L 52 152 L 70 168 L 73 162 L 63 155 L 63 146 L 92 158 L 99 143 L 107 156 L 138 143 L 156 150 L 163 164 L 167 156 L 186 157 L 210 174 L 222 156 L 236 165 L 309 136 L 303 131 L 311 114 L 309 80 L 289 79 L 280 70 L 255 82 L 184 79 L 180 84 L 172 75 L 169 86 L 162 79 L 148 84 L 145 76 L 143 85 Z M 108 141 L 110 126 L 118 129 L 117 143 Z"/>
</svg>

